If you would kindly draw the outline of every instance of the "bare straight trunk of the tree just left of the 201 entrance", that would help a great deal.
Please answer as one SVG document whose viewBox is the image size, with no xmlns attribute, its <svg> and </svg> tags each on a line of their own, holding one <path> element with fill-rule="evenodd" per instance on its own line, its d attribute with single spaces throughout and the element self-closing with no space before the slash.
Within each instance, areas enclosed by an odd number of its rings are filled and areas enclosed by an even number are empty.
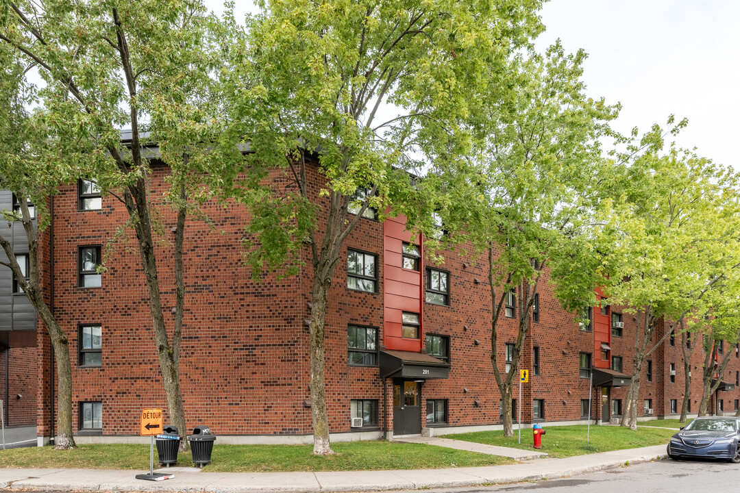
<svg viewBox="0 0 740 493">
<path fill-rule="evenodd" d="M 314 431 L 314 455 L 332 455 L 329 443 L 329 417 L 326 412 L 324 389 L 324 334 L 326 332 L 326 303 L 331 276 L 314 273 L 309 339 L 311 352 L 311 421 Z"/>
</svg>

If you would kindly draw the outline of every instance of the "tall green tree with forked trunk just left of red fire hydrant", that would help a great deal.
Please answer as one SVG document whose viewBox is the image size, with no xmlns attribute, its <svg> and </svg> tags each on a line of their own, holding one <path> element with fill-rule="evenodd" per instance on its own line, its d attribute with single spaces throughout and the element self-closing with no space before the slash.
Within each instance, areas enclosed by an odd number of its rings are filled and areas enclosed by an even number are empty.
<svg viewBox="0 0 740 493">
<path fill-rule="evenodd" d="M 569 310 L 595 302 L 596 265 L 584 268 L 595 256 L 583 220 L 601 162 L 599 137 L 610 135 L 607 122 L 618 107 L 586 97 L 585 57 L 582 51 L 566 55 L 559 43 L 545 56 L 514 57 L 511 86 L 502 90 L 496 75 L 468 118 L 476 153 L 468 160 L 441 160 L 423 180 L 430 191 L 425 194 L 439 197 L 433 207 L 450 233 L 440 245 L 469 244 L 486 258 L 491 364 L 502 397 L 504 436 L 514 433 L 512 390 L 546 269 Z M 414 211 L 408 214 L 414 217 Z M 581 268 L 566 276 L 574 265 Z M 516 342 L 502 365 L 507 317 L 515 318 Z"/>
</svg>

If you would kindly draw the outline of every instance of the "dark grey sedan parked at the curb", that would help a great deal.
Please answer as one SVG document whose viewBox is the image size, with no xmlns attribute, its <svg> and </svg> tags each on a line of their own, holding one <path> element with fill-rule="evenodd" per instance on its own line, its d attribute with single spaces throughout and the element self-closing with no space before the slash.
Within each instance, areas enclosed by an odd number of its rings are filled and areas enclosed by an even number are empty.
<svg viewBox="0 0 740 493">
<path fill-rule="evenodd" d="M 739 418 L 696 418 L 668 443 L 668 457 L 713 458 L 740 463 Z"/>
</svg>

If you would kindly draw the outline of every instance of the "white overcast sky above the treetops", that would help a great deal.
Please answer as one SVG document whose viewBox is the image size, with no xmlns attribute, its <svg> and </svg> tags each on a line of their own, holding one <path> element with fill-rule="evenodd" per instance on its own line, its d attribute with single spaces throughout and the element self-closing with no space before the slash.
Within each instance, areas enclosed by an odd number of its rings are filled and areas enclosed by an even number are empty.
<svg viewBox="0 0 740 493">
<path fill-rule="evenodd" d="M 214 10 L 220 0 L 206 0 Z M 238 1 L 243 18 L 255 11 Z M 616 129 L 641 133 L 671 113 L 688 118 L 677 143 L 740 171 L 740 0 L 551 0 L 542 10 L 544 51 L 556 38 L 589 54 L 588 94 L 622 102 Z"/>
</svg>

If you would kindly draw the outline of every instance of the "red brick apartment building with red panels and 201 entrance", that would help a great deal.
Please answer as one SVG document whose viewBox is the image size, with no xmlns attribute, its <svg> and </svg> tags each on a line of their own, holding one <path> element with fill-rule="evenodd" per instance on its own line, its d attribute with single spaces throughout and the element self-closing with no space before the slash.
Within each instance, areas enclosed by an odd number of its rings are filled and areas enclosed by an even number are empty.
<svg viewBox="0 0 740 493">
<path fill-rule="evenodd" d="M 314 175 L 317 176 L 317 175 Z M 164 189 L 155 166 L 152 196 Z M 0 192 L 0 207 L 12 207 Z M 309 401 L 310 267 L 277 281 L 254 282 L 243 267 L 238 206 L 206 205 L 212 227 L 186 225 L 186 313 L 181 387 L 189 426 L 206 424 L 220 443 L 311 441 Z M 144 407 L 166 409 L 152 340 L 147 288 L 134 244 L 118 243 L 98 274 L 92 265 L 124 224 L 115 197 L 92 182 L 61 187 L 53 222 L 41 235 L 44 284 L 68 331 L 73 361 L 77 440 L 125 441 L 138 435 Z M 334 441 L 394 435 L 500 429 L 501 404 L 491 370 L 491 299 L 486 268 L 457 254 L 427 262 L 403 218 L 379 222 L 371 211 L 347 239 L 326 323 L 326 396 Z M 173 217 L 163 218 L 165 225 Z M 164 228 L 169 231 L 169 228 Z M 0 224 L 19 258 L 27 252 L 19 224 Z M 25 250 L 24 250 L 25 248 Z M 175 305 L 172 248 L 159 247 L 165 306 Z M 546 275 L 546 274 L 545 274 Z M 53 436 L 54 370 L 50 341 L 9 270 L 0 270 L 0 399 L 10 426 L 36 424 L 39 443 Z M 511 300 L 511 313 L 519 310 Z M 522 350 L 528 384 L 514 406 L 522 422 L 585 424 L 616 420 L 632 372 L 635 321 L 617 307 L 574 322 L 548 283 L 541 284 Z M 660 337 L 661 334 L 657 334 Z M 515 319 L 502 322 L 499 361 L 516 340 Z M 684 392 L 681 338 L 659 348 L 643 368 L 640 418 L 677 416 Z M 736 385 L 736 347 L 724 380 Z M 704 354 L 693 351 L 693 397 L 701 398 Z M 593 388 L 590 378 L 593 373 Z M 718 392 L 713 412 L 734 412 L 737 387 Z M 591 398 L 593 404 L 589 409 Z M 188 430 L 189 431 L 189 430 Z"/>
</svg>

